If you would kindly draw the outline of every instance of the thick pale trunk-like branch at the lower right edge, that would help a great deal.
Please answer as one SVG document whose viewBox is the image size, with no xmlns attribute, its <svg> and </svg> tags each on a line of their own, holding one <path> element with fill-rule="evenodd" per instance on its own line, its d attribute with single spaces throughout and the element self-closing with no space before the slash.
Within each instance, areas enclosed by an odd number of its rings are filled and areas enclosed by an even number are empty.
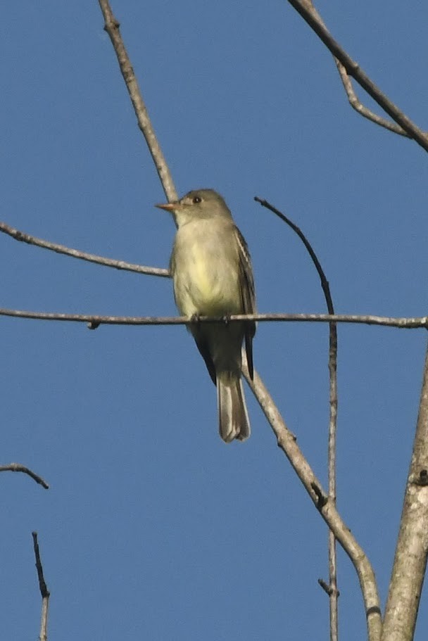
<svg viewBox="0 0 428 641">
<path fill-rule="evenodd" d="M 428 349 L 382 641 L 411 641 L 428 555 Z"/>
</svg>

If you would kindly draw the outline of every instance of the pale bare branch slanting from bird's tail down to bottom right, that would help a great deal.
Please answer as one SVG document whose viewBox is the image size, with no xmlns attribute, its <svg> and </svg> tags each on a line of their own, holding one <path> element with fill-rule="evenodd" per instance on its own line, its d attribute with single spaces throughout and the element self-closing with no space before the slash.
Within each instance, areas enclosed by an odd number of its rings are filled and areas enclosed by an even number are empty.
<svg viewBox="0 0 428 641">
<path fill-rule="evenodd" d="M 258 404 L 263 410 L 267 421 L 269 421 L 270 426 L 277 437 L 279 448 L 281 448 L 287 456 L 287 459 L 289 459 L 291 466 L 296 471 L 298 478 L 300 478 L 322 518 L 325 520 L 329 529 L 334 533 L 334 537 L 339 541 L 340 545 L 344 548 L 346 554 L 348 554 L 348 557 L 351 559 L 353 566 L 357 571 L 361 591 L 363 592 L 369 640 L 379 641 L 382 619 L 376 579 L 374 577 L 374 571 L 370 565 L 370 561 L 365 556 L 364 551 L 360 545 L 358 545 L 358 542 L 353 537 L 349 528 L 346 526 L 344 521 L 342 521 L 339 512 L 336 510 L 334 502 L 329 500 L 329 497 L 322 489 L 320 481 L 318 481 L 313 470 L 310 468 L 310 465 L 306 461 L 305 457 L 303 457 L 301 450 L 298 448 L 296 437 L 287 428 L 284 423 L 284 419 L 282 419 L 279 414 L 272 397 L 267 391 L 267 388 L 263 385 L 263 382 L 257 372 L 254 372 L 254 378 L 253 381 L 251 381 L 248 376 L 244 352 L 243 373 L 248 385 L 256 396 Z"/>
</svg>

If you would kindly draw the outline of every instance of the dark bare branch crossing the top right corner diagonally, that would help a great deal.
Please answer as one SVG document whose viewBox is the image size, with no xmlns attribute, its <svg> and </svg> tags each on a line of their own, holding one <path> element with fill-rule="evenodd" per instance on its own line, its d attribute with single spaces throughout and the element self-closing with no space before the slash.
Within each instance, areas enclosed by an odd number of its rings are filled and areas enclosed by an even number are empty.
<svg viewBox="0 0 428 641">
<path fill-rule="evenodd" d="M 377 104 L 403 128 L 409 138 L 415 140 L 417 144 L 424 148 L 425 151 L 428 151 L 428 135 L 422 132 L 422 129 L 417 127 L 401 109 L 389 100 L 379 87 L 370 80 L 370 77 L 368 77 L 360 68 L 360 65 L 353 61 L 351 56 L 342 49 L 340 44 L 332 37 L 329 30 L 327 30 L 327 27 L 320 18 L 320 15 L 313 7 L 312 2 L 310 0 L 288 1 L 289 4 L 291 4 L 291 6 L 293 6 L 302 16 L 303 20 L 306 20 L 306 23 L 308 23 L 310 28 L 315 31 L 317 36 L 322 40 L 325 46 L 327 46 L 327 49 L 331 51 L 334 58 L 337 58 L 337 60 L 344 66 L 348 75 L 353 77 L 354 80 L 356 80 L 356 82 L 358 82 L 358 84 L 367 91 L 367 94 L 369 94 L 369 96 L 371 96 L 372 99 L 376 101 Z"/>
</svg>

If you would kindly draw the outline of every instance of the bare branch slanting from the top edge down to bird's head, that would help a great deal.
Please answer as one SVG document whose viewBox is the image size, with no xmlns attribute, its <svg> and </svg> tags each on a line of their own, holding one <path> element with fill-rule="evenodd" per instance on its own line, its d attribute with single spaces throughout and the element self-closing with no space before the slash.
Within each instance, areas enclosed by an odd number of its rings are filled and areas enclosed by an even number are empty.
<svg viewBox="0 0 428 641">
<path fill-rule="evenodd" d="M 163 156 L 162 150 L 160 149 L 153 126 L 151 125 L 149 113 L 139 91 L 137 78 L 135 77 L 134 70 L 132 69 L 131 61 L 125 49 L 125 45 L 123 44 L 122 37 L 120 36 L 120 24 L 118 23 L 118 20 L 115 19 L 108 0 L 99 0 L 99 6 L 101 7 L 101 11 L 104 16 L 104 29 L 108 33 L 111 39 L 111 44 L 113 44 L 113 48 L 115 50 L 115 54 L 118 57 L 120 72 L 122 73 L 123 80 L 125 80 L 127 90 L 130 94 L 132 106 L 134 107 L 134 112 L 137 116 L 138 126 L 146 139 L 151 157 L 153 158 L 153 163 L 155 163 L 160 182 L 163 186 L 163 191 L 165 191 L 165 196 L 168 198 L 168 201 L 176 201 L 177 191 L 175 191 L 170 170 Z"/>
</svg>

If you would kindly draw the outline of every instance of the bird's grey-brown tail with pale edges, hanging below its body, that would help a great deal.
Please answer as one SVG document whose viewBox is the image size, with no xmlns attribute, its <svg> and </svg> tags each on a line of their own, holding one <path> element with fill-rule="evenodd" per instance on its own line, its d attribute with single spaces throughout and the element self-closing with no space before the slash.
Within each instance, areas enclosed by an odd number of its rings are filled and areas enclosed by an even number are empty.
<svg viewBox="0 0 428 641">
<path fill-rule="evenodd" d="M 250 421 L 241 378 L 222 372 L 217 377 L 218 429 L 225 443 L 250 436 Z"/>
</svg>

